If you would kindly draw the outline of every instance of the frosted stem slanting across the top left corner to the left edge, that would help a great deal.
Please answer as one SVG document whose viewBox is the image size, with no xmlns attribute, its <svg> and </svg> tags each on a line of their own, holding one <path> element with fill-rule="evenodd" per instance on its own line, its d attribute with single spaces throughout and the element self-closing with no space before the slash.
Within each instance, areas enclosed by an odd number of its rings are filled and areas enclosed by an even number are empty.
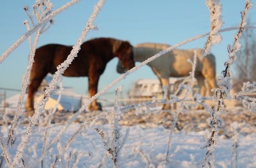
<svg viewBox="0 0 256 168">
<path fill-rule="evenodd" d="M 0 63 L 2 63 L 5 58 L 7 58 L 23 41 L 26 40 L 26 38 L 28 38 L 28 36 L 30 36 L 31 34 L 33 34 L 36 30 L 38 30 L 39 28 L 41 28 L 43 25 L 45 25 L 49 20 L 53 19 L 53 17 L 55 17 L 56 15 L 58 15 L 60 12 L 64 11 L 65 9 L 67 9 L 68 7 L 74 5 L 75 3 L 78 3 L 80 0 L 72 0 L 68 3 L 66 3 L 65 5 L 63 5 L 62 7 L 56 9 L 55 11 L 53 11 L 50 15 L 46 16 L 44 19 L 42 19 L 40 22 L 38 22 L 38 24 L 34 25 L 33 29 L 27 31 L 24 35 L 22 35 L 13 45 L 11 45 L 6 51 L 5 53 L 0 57 Z"/>
</svg>

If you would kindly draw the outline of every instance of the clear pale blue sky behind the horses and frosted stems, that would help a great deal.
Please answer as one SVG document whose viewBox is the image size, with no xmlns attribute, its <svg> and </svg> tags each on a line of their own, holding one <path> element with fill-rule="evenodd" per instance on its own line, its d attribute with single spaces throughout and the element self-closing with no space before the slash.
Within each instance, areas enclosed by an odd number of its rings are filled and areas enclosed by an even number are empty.
<svg viewBox="0 0 256 168">
<path fill-rule="evenodd" d="M 32 8 L 34 1 L 1 1 L 0 10 L 0 54 L 2 55 L 21 35 L 26 32 L 23 21 L 28 19 L 23 6 Z M 68 2 L 54 0 L 54 10 Z M 71 6 L 55 17 L 54 25 L 46 33 L 41 34 L 38 47 L 48 43 L 59 43 L 74 45 L 86 24 L 93 6 L 97 1 L 85 1 Z M 239 25 L 240 11 L 245 6 L 242 0 L 223 0 L 224 26 L 231 27 Z M 256 4 L 256 1 L 251 1 Z M 248 17 L 255 26 L 255 7 L 249 11 Z M 184 41 L 187 38 L 209 32 L 210 19 L 209 10 L 202 0 L 160 0 L 143 1 L 130 0 L 106 1 L 102 11 L 95 20 L 99 28 L 91 31 L 86 40 L 94 37 L 114 37 L 120 40 L 128 40 L 132 45 L 142 42 L 167 43 L 170 45 Z M 223 41 L 216 45 L 212 53 L 216 57 L 217 74 L 224 69 L 224 61 L 227 60 L 228 44 L 233 44 L 236 31 L 223 33 Z M 181 46 L 180 49 L 203 48 L 206 38 Z M 0 64 L 0 87 L 21 88 L 22 75 L 25 74 L 29 55 L 28 41 L 23 42 L 2 64 Z M 99 89 L 115 80 L 119 74 L 116 73 L 117 58 L 107 64 L 104 74 L 100 78 Z M 135 73 L 126 77 L 124 81 L 117 84 L 124 85 L 124 93 L 131 88 L 132 83 L 138 79 L 156 78 L 148 66 L 144 66 Z M 64 86 L 74 87 L 75 92 L 85 94 L 88 91 L 87 77 L 64 77 Z M 110 90 L 112 92 L 113 89 Z M 2 91 L 0 91 L 2 93 Z M 7 92 L 7 95 L 17 94 Z M 113 96 L 112 94 L 111 96 Z M 102 97 L 109 96 L 108 94 Z"/>
</svg>

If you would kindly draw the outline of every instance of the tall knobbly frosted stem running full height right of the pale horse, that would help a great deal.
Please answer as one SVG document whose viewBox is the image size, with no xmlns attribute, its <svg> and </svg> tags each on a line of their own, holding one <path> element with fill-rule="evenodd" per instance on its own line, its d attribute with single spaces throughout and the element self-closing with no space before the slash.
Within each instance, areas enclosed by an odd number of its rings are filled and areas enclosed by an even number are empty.
<svg viewBox="0 0 256 168">
<path fill-rule="evenodd" d="M 208 140 L 208 144 L 206 145 L 206 154 L 204 156 L 203 167 L 209 166 L 209 156 L 213 153 L 214 145 L 216 144 L 216 135 L 218 134 L 218 127 L 220 127 L 223 123 L 219 119 L 221 112 L 224 109 L 223 100 L 226 98 L 230 98 L 230 89 L 231 89 L 231 70 L 230 66 L 236 60 L 236 53 L 240 49 L 241 45 L 239 43 L 239 38 L 241 37 L 241 33 L 246 25 L 246 15 L 248 10 L 252 7 L 250 0 L 246 0 L 245 9 L 241 13 L 241 24 L 240 29 L 238 30 L 237 34 L 235 34 L 235 42 L 233 47 L 231 48 L 228 46 L 228 53 L 229 59 L 225 62 L 226 69 L 222 72 L 223 74 L 223 82 L 219 84 L 220 88 L 215 89 L 216 91 L 216 98 L 218 99 L 218 105 L 214 108 L 212 113 L 212 118 L 210 124 L 212 126 L 212 134 L 210 139 Z"/>
</svg>

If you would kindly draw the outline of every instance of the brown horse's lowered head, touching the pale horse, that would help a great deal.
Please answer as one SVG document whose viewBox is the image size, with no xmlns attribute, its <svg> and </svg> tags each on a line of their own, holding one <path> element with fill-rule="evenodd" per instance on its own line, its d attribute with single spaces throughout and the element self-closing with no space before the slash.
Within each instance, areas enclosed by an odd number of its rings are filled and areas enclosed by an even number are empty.
<svg viewBox="0 0 256 168">
<path fill-rule="evenodd" d="M 129 42 L 117 41 L 113 46 L 113 54 L 118 57 L 119 62 L 117 65 L 117 72 L 124 73 L 126 70 L 130 70 L 135 67 L 135 61 L 133 59 L 133 49 Z"/>
</svg>

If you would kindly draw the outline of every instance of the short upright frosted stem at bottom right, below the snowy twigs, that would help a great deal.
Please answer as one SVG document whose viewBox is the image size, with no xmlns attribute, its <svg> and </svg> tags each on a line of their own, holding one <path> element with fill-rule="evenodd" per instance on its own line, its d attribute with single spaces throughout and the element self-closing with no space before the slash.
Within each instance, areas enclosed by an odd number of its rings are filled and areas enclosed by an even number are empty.
<svg viewBox="0 0 256 168">
<path fill-rule="evenodd" d="M 232 156 L 231 156 L 231 167 L 237 168 L 237 148 L 239 147 L 238 144 L 238 123 L 233 122 L 230 124 L 232 137 L 233 137 L 233 145 L 232 145 Z"/>
</svg>

